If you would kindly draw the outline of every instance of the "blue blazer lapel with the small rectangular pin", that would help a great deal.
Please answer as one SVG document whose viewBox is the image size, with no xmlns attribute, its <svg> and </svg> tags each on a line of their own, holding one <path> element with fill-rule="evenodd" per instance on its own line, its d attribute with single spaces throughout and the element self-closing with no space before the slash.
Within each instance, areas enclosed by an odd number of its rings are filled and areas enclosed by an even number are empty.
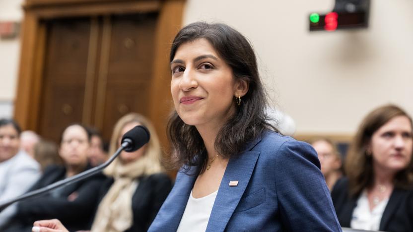
<svg viewBox="0 0 413 232">
<path fill-rule="evenodd" d="M 229 159 L 212 207 L 207 232 L 225 230 L 232 213 L 244 194 L 260 155 L 260 152 L 249 150 L 260 140 L 261 137 L 251 143 L 247 151 L 244 151 L 240 156 Z M 236 186 L 229 186 L 229 182 L 233 180 L 237 180 L 238 184 Z"/>
</svg>

